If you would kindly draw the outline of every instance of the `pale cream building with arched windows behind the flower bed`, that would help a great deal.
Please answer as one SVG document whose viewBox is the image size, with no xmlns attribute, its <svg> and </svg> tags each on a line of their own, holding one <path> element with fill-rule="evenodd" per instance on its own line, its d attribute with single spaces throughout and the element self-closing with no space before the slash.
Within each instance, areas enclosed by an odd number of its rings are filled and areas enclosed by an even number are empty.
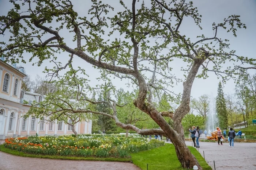
<svg viewBox="0 0 256 170">
<path fill-rule="evenodd" d="M 39 136 L 74 134 L 72 127 L 63 121 L 48 122 L 34 116 L 23 119 L 23 115 L 30 109 L 29 104 L 23 104 L 24 100 L 32 103 L 43 101 L 45 98 L 44 95 L 21 89 L 24 77 L 26 75 L 23 73 L 23 68 L 17 70 L 0 60 L 0 139 L 35 134 Z M 78 134 L 91 134 L 91 127 L 91 120 L 75 125 Z"/>
</svg>

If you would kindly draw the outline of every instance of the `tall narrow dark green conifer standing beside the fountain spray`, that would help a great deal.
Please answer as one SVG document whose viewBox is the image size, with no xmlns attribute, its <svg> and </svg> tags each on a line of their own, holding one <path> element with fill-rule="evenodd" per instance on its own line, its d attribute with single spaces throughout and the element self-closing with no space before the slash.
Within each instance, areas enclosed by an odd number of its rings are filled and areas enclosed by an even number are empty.
<svg viewBox="0 0 256 170">
<path fill-rule="evenodd" d="M 219 82 L 218 84 L 218 93 L 216 97 L 216 112 L 219 120 L 219 127 L 221 129 L 227 129 L 228 119 L 227 119 L 226 100 L 224 98 L 221 82 Z"/>
</svg>

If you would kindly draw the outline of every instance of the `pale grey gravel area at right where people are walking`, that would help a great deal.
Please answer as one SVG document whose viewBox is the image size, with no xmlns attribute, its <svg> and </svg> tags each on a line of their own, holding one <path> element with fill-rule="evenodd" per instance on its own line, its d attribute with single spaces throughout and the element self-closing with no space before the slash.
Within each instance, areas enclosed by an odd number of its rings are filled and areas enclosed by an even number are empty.
<svg viewBox="0 0 256 170">
<path fill-rule="evenodd" d="M 192 142 L 186 142 L 192 146 Z M 234 143 L 234 148 L 229 143 L 218 145 L 217 142 L 200 142 L 199 152 L 214 170 L 256 170 L 256 143 Z"/>
</svg>

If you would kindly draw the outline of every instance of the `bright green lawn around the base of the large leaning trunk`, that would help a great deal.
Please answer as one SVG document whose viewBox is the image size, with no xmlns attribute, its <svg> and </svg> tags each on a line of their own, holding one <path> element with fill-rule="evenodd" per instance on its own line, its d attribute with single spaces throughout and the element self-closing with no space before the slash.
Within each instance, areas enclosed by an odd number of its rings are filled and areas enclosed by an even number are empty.
<svg viewBox="0 0 256 170">
<path fill-rule="evenodd" d="M 190 146 L 188 148 L 191 150 L 192 154 L 195 155 L 204 170 L 212 169 L 195 148 Z M 166 143 L 165 146 L 149 151 L 133 153 L 131 156 L 133 164 L 137 165 L 142 170 L 147 169 L 147 164 L 149 170 L 183 170 L 181 163 L 176 156 L 173 144 Z"/>
</svg>

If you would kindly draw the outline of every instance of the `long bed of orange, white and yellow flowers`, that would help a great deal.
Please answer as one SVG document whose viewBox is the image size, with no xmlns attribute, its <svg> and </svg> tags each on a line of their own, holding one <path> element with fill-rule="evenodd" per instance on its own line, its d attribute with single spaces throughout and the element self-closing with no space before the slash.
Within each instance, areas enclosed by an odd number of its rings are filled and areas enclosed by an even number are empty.
<svg viewBox="0 0 256 170">
<path fill-rule="evenodd" d="M 39 155 L 68 155 L 78 157 L 128 157 L 130 153 L 163 146 L 164 142 L 149 142 L 140 135 L 71 135 L 29 136 L 5 139 L 5 147 Z"/>
</svg>

